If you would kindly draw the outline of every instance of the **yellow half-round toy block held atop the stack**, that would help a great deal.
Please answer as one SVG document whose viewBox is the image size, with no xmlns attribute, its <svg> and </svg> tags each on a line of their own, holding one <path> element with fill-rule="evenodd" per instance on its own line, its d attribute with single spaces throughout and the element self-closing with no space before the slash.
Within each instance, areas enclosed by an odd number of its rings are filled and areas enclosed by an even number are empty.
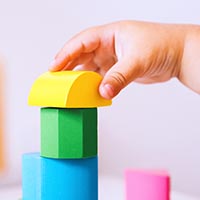
<svg viewBox="0 0 200 200">
<path fill-rule="evenodd" d="M 42 107 L 90 108 L 111 105 L 99 94 L 102 77 L 92 71 L 46 72 L 34 82 L 28 104 Z"/>
</svg>

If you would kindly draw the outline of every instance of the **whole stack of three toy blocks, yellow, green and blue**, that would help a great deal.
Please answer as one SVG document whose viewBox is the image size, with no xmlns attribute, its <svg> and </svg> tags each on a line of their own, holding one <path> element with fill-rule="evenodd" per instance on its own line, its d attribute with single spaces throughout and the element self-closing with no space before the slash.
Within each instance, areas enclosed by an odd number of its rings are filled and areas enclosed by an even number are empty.
<svg viewBox="0 0 200 200">
<path fill-rule="evenodd" d="M 33 84 L 29 104 L 41 106 L 41 152 L 23 155 L 23 200 L 97 200 L 97 107 L 94 72 L 47 72 Z"/>
</svg>

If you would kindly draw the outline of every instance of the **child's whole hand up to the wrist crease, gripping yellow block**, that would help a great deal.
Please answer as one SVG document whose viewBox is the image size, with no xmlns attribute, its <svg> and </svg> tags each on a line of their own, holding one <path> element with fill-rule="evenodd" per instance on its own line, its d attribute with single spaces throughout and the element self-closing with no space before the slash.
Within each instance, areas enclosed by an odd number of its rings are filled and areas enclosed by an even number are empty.
<svg viewBox="0 0 200 200">
<path fill-rule="evenodd" d="M 100 94 L 111 99 L 132 81 L 155 83 L 180 77 L 185 29 L 136 21 L 89 28 L 65 44 L 50 70 L 96 71 L 104 76 Z"/>
</svg>

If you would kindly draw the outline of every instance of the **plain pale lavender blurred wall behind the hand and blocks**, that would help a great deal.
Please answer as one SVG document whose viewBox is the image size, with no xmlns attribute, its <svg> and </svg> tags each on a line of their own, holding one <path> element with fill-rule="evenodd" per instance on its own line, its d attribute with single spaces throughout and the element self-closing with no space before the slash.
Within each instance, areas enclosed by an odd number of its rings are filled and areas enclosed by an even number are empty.
<svg viewBox="0 0 200 200">
<path fill-rule="evenodd" d="M 199 24 L 199 8 L 197 0 L 1 0 L 5 130 L 0 157 L 3 152 L 5 160 L 0 163 L 6 170 L 0 172 L 0 185 L 20 183 L 22 154 L 39 151 L 39 108 L 27 106 L 28 93 L 70 37 L 124 19 Z M 131 84 L 111 107 L 99 109 L 100 173 L 123 177 L 126 168 L 164 168 L 174 190 L 200 197 L 199 102 L 199 95 L 177 80 Z"/>
</svg>

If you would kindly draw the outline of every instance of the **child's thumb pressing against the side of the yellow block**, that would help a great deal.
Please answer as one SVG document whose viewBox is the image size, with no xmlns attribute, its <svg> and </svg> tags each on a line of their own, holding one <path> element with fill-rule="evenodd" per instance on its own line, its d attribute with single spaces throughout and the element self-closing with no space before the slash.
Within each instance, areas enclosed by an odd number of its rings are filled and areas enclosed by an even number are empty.
<svg viewBox="0 0 200 200">
<path fill-rule="evenodd" d="M 118 61 L 105 74 L 100 87 L 100 95 L 105 99 L 112 99 L 124 87 L 126 87 L 134 79 L 138 78 L 140 68 L 128 59 Z"/>
</svg>

